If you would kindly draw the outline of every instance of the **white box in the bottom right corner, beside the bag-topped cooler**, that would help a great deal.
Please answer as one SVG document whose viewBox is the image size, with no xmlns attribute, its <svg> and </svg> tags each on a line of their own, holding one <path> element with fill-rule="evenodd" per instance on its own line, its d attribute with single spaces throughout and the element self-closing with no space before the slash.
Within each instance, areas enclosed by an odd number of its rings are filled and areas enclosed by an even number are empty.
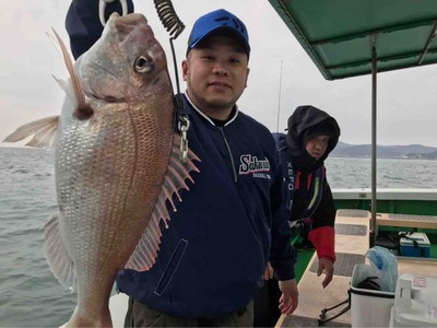
<svg viewBox="0 0 437 328">
<path fill-rule="evenodd" d="M 399 277 L 390 327 L 437 327 L 437 277 Z"/>
</svg>

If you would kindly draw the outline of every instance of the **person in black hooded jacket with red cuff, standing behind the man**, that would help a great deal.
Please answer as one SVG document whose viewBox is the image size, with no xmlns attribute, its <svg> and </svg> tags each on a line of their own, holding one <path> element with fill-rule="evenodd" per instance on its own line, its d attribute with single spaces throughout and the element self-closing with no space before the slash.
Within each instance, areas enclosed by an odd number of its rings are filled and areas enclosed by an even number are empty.
<svg viewBox="0 0 437 328">
<path fill-rule="evenodd" d="M 332 280 L 335 261 L 335 207 L 324 161 L 339 142 L 340 127 L 328 113 L 309 105 L 298 106 L 287 126 L 286 134 L 273 133 L 273 138 L 286 181 L 290 223 L 300 236 L 297 248 L 316 249 L 317 274 L 324 273 L 326 288 Z M 281 315 L 272 302 L 280 293 L 277 281 L 268 272 L 264 279 L 264 286 L 255 300 L 256 327 L 272 327 Z"/>
</svg>

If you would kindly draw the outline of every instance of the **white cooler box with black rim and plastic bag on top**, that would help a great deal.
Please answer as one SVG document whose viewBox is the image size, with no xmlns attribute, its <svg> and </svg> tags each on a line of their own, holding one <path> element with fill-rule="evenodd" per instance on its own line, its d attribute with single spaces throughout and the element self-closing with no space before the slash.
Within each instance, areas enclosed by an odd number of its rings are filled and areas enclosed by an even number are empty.
<svg viewBox="0 0 437 328">
<path fill-rule="evenodd" d="M 351 281 L 351 326 L 388 327 L 394 293 L 361 289 L 357 285 L 367 277 L 377 277 L 378 270 L 359 263 L 354 267 Z M 378 279 L 374 280 L 379 283 Z"/>
</svg>

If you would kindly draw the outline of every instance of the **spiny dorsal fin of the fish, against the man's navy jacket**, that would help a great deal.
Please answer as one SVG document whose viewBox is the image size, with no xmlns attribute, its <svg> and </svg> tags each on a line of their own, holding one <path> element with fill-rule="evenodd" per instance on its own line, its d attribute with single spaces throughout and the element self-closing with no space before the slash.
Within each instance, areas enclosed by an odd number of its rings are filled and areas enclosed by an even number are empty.
<svg viewBox="0 0 437 328">
<path fill-rule="evenodd" d="M 161 221 L 164 222 L 165 227 L 168 227 L 168 221 L 170 215 L 168 213 L 166 201 L 168 200 L 173 207 L 173 211 L 176 211 L 176 206 L 173 201 L 173 196 L 176 195 L 178 200 L 181 201 L 179 189 L 184 188 L 188 190 L 188 186 L 185 179 L 192 178 L 190 171 L 199 172 L 192 161 L 200 161 L 199 157 L 192 152 L 188 152 L 188 157 L 185 163 L 179 160 L 180 155 L 180 137 L 174 134 L 173 138 L 173 150 L 170 163 L 168 165 L 167 174 L 164 179 L 164 184 L 161 188 L 160 196 L 157 197 L 155 208 L 153 209 L 152 216 L 149 220 L 147 227 L 145 229 L 135 250 L 131 255 L 129 261 L 126 265 L 127 269 L 133 269 L 137 271 L 146 271 L 154 263 L 160 250 L 161 243 Z"/>
</svg>

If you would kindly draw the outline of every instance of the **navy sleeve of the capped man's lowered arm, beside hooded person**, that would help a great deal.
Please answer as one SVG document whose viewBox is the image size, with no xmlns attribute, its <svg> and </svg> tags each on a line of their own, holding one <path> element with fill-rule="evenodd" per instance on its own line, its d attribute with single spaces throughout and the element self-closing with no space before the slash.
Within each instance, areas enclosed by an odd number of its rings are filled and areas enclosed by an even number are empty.
<svg viewBox="0 0 437 328">
<path fill-rule="evenodd" d="M 297 253 L 291 243 L 292 232 L 288 224 L 291 208 L 286 198 L 286 181 L 283 178 L 280 161 L 277 161 L 275 172 L 277 174 L 270 195 L 272 209 L 270 263 L 277 280 L 290 280 L 295 278 L 294 265 Z"/>
</svg>

